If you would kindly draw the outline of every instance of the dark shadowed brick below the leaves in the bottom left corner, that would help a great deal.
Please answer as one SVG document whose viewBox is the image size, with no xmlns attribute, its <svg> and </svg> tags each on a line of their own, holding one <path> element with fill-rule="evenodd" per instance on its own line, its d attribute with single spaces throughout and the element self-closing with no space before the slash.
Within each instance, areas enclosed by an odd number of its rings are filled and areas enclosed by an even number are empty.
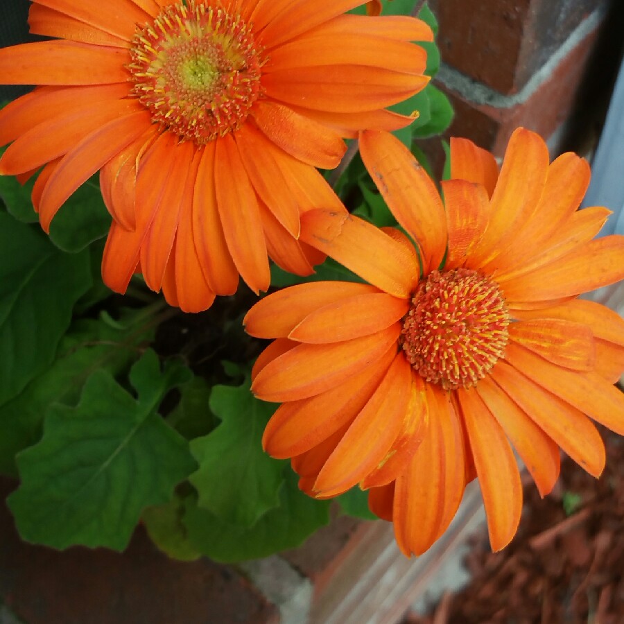
<svg viewBox="0 0 624 624">
<path fill-rule="evenodd" d="M 0 481 L 2 499 L 14 485 Z M 143 530 L 128 550 L 24 544 L 0 506 L 0 601 L 26 624 L 277 624 L 277 609 L 239 573 L 157 551 Z"/>
</svg>

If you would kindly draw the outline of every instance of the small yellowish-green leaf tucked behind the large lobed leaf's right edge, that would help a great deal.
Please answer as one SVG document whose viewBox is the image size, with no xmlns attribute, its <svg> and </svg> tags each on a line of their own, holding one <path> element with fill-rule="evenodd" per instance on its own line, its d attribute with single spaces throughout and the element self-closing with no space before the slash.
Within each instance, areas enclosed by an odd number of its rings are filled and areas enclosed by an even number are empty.
<svg viewBox="0 0 624 624">
<path fill-rule="evenodd" d="M 202 555 L 189 541 L 187 528 L 182 523 L 184 501 L 174 496 L 173 501 L 148 507 L 141 520 L 154 544 L 168 557 L 178 561 L 195 561 Z"/>
</svg>

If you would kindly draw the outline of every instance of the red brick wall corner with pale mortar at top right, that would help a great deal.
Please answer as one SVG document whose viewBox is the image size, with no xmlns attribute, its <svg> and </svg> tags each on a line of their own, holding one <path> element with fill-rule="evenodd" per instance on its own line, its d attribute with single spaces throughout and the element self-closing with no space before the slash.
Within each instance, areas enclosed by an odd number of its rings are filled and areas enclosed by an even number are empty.
<svg viewBox="0 0 624 624">
<path fill-rule="evenodd" d="M 621 0 L 431 0 L 447 132 L 501 156 L 519 125 L 553 153 L 597 137 L 621 56 Z"/>
</svg>

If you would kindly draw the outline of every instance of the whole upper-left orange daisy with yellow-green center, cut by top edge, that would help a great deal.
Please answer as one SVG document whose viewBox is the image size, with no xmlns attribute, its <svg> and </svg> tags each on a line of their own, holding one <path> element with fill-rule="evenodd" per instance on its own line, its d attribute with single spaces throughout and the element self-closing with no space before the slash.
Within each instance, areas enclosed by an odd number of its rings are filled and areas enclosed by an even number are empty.
<svg viewBox="0 0 624 624">
<path fill-rule="evenodd" d="M 300 214 L 343 209 L 315 167 L 342 137 L 412 119 L 385 110 L 422 89 L 433 34 L 411 17 L 344 15 L 362 0 L 33 0 L 31 32 L 0 50 L 0 83 L 44 85 L 0 112 L 0 173 L 43 169 L 48 229 L 100 170 L 114 218 L 103 277 L 133 272 L 171 304 L 206 309 L 239 275 L 266 290 L 267 254 L 308 275 Z"/>
</svg>

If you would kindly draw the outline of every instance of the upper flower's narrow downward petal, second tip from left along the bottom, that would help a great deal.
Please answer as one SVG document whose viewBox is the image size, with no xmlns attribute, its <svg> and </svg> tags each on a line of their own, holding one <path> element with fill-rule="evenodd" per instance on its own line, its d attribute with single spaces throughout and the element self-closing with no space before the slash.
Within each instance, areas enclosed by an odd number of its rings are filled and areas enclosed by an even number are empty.
<svg viewBox="0 0 624 624">
<path fill-rule="evenodd" d="M 184 192 L 190 188 L 189 173 L 192 173 L 193 178 L 196 175 L 194 171 L 191 171 L 196 149 L 190 141 L 180 143 L 173 149 L 170 156 L 173 160 L 173 167 L 166 177 L 162 198 L 145 240 L 141 244 L 140 261 L 143 276 L 149 288 L 156 292 L 162 286 L 164 270 L 173 248 Z"/>
</svg>

